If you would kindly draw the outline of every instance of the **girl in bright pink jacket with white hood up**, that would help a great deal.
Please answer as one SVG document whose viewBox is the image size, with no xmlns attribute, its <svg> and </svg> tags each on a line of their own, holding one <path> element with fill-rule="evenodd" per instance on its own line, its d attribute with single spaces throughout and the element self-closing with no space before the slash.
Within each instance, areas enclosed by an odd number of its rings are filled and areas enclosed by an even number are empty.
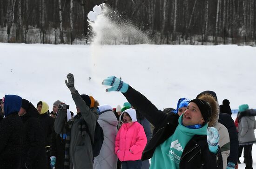
<svg viewBox="0 0 256 169">
<path fill-rule="evenodd" d="M 145 131 L 137 122 L 134 109 L 123 111 L 120 118 L 123 124 L 115 137 L 115 154 L 122 169 L 141 169 L 141 155 L 147 143 Z"/>
</svg>

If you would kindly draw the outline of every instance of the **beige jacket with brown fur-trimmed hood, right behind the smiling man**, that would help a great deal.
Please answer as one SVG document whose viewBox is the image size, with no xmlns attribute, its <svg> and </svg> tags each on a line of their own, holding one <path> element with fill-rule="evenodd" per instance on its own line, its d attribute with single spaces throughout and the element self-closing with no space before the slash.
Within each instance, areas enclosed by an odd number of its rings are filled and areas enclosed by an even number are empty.
<svg viewBox="0 0 256 169">
<path fill-rule="evenodd" d="M 230 153 L 230 140 L 229 140 L 228 129 L 223 124 L 218 122 L 219 114 L 220 114 L 220 106 L 218 102 L 215 100 L 215 98 L 208 94 L 202 94 L 198 98 L 204 101 L 207 101 L 212 108 L 212 114 L 211 114 L 208 126 L 215 127 L 218 130 L 218 133 L 220 135 L 219 146 L 222 152 L 223 169 L 226 169 L 227 163 L 228 163 L 228 157 Z"/>
</svg>

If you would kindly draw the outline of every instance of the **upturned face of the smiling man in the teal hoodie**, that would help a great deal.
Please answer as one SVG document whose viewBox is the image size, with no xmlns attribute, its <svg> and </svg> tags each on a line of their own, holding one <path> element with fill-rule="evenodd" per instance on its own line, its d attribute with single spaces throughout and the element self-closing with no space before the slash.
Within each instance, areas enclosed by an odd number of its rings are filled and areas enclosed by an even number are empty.
<svg viewBox="0 0 256 169">
<path fill-rule="evenodd" d="M 182 123 L 184 126 L 202 124 L 204 119 L 198 106 L 190 102 L 187 106 L 187 110 L 183 113 Z"/>
</svg>

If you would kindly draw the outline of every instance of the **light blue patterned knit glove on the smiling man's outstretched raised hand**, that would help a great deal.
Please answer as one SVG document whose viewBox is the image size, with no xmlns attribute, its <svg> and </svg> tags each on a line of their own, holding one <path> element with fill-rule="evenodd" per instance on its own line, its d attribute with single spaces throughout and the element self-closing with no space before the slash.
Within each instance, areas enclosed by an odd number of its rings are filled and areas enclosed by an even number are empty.
<svg viewBox="0 0 256 169">
<path fill-rule="evenodd" d="M 121 81 L 119 78 L 116 78 L 115 76 L 108 77 L 103 80 L 102 84 L 112 86 L 106 91 L 121 91 L 122 93 L 125 93 L 128 91 L 128 84 Z"/>
</svg>

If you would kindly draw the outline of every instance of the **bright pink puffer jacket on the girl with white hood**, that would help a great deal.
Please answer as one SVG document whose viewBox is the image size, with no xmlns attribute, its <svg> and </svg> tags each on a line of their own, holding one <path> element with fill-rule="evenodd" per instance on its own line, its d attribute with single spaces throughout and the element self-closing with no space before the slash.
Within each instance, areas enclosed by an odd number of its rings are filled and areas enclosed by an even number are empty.
<svg viewBox="0 0 256 169">
<path fill-rule="evenodd" d="M 115 154 L 120 161 L 140 160 L 147 143 L 140 123 L 124 123 L 115 137 Z"/>
</svg>

